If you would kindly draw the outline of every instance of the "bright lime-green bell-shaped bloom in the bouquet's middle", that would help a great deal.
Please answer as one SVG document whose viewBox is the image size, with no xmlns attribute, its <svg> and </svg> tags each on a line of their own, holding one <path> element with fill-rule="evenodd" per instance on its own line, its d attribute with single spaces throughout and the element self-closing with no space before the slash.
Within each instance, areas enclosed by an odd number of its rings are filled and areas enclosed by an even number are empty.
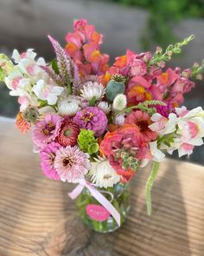
<svg viewBox="0 0 204 256">
<path fill-rule="evenodd" d="M 81 150 L 88 154 L 95 154 L 99 151 L 99 144 L 91 130 L 81 129 L 78 136 L 78 145 Z"/>
</svg>

